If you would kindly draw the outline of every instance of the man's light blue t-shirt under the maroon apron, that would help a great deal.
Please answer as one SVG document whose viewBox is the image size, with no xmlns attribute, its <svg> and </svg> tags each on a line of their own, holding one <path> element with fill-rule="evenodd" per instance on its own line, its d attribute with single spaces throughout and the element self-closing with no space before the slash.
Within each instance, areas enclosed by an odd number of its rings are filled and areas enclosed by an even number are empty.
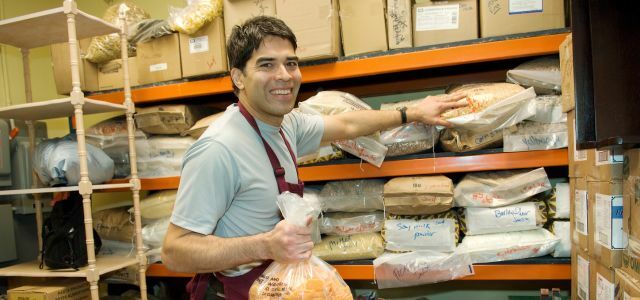
<svg viewBox="0 0 640 300">
<path fill-rule="evenodd" d="M 286 181 L 297 183 L 295 165 L 279 128 L 256 122 L 285 169 Z M 320 116 L 293 111 L 284 116 L 281 128 L 299 157 L 319 147 L 324 122 Z M 280 221 L 278 194 L 262 140 L 238 106 L 231 105 L 187 150 L 171 223 L 220 237 L 267 232 Z"/>
</svg>

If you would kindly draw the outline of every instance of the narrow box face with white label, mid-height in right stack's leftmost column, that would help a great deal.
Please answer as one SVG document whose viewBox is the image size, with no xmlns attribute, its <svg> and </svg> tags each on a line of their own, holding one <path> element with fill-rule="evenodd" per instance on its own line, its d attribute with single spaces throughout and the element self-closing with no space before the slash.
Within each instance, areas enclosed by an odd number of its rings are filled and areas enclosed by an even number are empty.
<svg viewBox="0 0 640 300">
<path fill-rule="evenodd" d="M 571 241 L 580 251 L 588 253 L 588 235 L 593 230 L 589 224 L 589 200 L 587 181 L 584 178 L 571 178 Z"/>
</svg>

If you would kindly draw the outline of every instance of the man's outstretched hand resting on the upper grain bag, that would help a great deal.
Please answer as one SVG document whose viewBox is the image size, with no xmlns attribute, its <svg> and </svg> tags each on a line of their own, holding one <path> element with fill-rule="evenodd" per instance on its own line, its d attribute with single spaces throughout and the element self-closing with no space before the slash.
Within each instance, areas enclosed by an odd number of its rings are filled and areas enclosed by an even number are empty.
<svg viewBox="0 0 640 300">
<path fill-rule="evenodd" d="M 466 96 L 464 93 L 428 96 L 418 105 L 407 109 L 407 117 L 409 121 L 451 127 L 451 123 L 444 120 L 441 115 L 448 110 L 467 106 L 468 103 L 464 99 Z"/>
</svg>

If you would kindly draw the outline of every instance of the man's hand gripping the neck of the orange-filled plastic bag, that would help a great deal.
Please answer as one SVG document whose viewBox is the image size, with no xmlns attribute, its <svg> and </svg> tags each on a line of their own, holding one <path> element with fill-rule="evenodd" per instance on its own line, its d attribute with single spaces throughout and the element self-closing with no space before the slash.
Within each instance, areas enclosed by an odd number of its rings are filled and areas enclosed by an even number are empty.
<svg viewBox="0 0 640 300">
<path fill-rule="evenodd" d="M 267 234 L 269 258 L 282 263 L 293 263 L 311 257 L 311 218 L 307 226 L 300 227 L 280 221 Z"/>
</svg>

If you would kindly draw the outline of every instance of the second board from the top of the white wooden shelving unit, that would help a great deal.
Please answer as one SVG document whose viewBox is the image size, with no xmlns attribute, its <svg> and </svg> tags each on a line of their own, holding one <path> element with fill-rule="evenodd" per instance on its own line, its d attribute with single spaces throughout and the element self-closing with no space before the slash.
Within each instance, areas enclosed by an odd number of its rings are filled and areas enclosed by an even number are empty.
<svg viewBox="0 0 640 300">
<path fill-rule="evenodd" d="M 105 101 L 84 99 L 83 114 L 96 114 L 112 111 L 125 111 L 122 104 L 114 104 Z M 72 117 L 74 107 L 71 98 L 24 103 L 0 108 L 0 118 L 18 120 L 46 120 L 62 117 Z"/>
</svg>

